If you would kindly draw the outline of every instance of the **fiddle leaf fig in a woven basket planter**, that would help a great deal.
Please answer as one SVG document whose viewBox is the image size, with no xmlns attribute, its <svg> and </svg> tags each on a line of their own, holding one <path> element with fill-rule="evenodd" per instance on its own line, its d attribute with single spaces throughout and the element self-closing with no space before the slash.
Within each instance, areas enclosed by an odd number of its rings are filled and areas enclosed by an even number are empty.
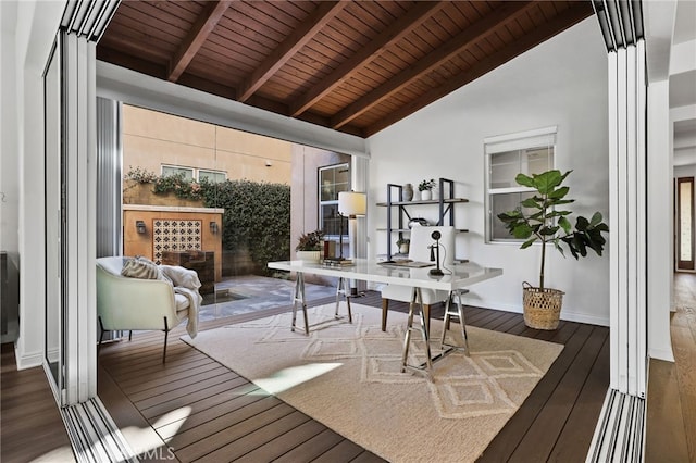
<svg viewBox="0 0 696 463">
<path fill-rule="evenodd" d="M 532 174 L 531 177 L 518 174 L 515 182 L 533 188 L 534 196 L 520 202 L 514 211 L 498 214 L 508 232 L 514 238 L 524 240 L 520 249 L 529 248 L 537 241 L 542 243 L 539 285 L 533 287 L 526 281 L 522 284 L 524 323 L 531 328 L 556 329 L 560 317 L 563 291 L 544 285 L 546 245 L 552 243 L 563 256 L 567 249 L 579 260 L 587 255 L 588 249 L 601 255 L 607 242 L 602 233 L 608 233 L 609 227 L 602 222 L 599 212 L 595 212 L 591 220 L 577 216 L 575 225 L 572 225 L 572 212 L 563 207 L 575 200 L 567 198 L 569 187 L 562 186 L 571 172 L 561 174 L 560 171 L 552 170 Z"/>
</svg>

